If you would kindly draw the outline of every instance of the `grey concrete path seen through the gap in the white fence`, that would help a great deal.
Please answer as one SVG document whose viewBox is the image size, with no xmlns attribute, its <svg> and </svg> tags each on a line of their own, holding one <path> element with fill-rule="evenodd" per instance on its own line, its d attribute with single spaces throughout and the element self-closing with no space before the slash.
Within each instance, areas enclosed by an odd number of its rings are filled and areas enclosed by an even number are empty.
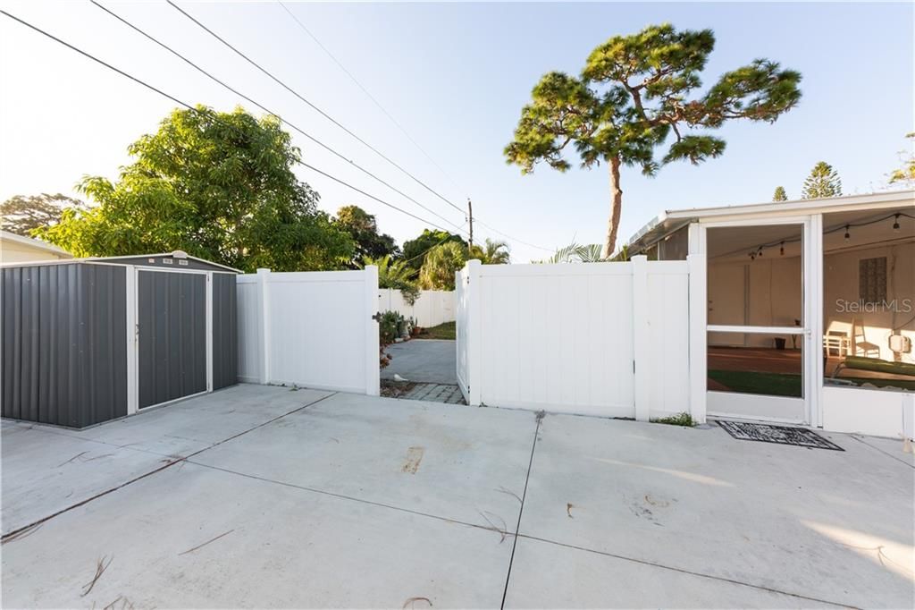
<svg viewBox="0 0 915 610">
<path fill-rule="evenodd" d="M 393 379 L 396 373 L 420 383 L 458 385 L 458 352 L 454 341 L 412 339 L 388 345 L 385 350 L 392 360 L 382 368 L 382 379 Z"/>
</svg>

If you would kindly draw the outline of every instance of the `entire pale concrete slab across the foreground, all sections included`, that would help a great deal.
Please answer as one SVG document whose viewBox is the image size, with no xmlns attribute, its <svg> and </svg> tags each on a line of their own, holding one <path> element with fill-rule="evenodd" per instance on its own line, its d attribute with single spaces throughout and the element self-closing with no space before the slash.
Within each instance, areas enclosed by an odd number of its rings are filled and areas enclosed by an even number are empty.
<svg viewBox="0 0 915 610">
<path fill-rule="evenodd" d="M 256 386 L 5 421 L 4 605 L 911 607 L 911 455 L 829 437 Z"/>
</svg>

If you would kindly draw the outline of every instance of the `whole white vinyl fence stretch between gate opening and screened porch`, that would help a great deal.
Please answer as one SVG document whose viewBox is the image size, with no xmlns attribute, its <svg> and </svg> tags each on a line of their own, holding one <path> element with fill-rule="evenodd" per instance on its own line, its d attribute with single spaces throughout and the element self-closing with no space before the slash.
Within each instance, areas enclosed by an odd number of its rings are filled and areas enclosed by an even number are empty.
<svg viewBox="0 0 915 610">
<path fill-rule="evenodd" d="M 480 265 L 458 272 L 468 404 L 653 419 L 690 410 L 685 261 Z"/>
</svg>

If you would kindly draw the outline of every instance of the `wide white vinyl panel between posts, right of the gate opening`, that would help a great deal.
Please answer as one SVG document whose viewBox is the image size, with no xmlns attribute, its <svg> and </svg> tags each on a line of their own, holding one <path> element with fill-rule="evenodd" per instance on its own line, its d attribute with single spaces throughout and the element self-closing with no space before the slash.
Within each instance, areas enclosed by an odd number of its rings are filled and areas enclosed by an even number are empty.
<svg viewBox="0 0 915 610">
<path fill-rule="evenodd" d="M 630 264 L 484 265 L 477 289 L 484 404 L 633 417 Z"/>
</svg>

